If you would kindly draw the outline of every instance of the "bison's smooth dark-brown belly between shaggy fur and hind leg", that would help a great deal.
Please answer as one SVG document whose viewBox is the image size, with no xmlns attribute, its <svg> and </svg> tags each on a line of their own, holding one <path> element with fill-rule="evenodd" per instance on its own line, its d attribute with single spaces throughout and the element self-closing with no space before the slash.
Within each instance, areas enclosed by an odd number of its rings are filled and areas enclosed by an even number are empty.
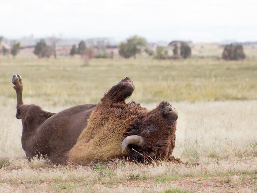
<svg viewBox="0 0 257 193">
<path fill-rule="evenodd" d="M 95 106 L 96 104 L 74 106 L 47 119 L 37 133 L 37 151 L 47 155 L 54 163 L 66 162 L 67 152 L 87 127 L 87 120 Z"/>
</svg>

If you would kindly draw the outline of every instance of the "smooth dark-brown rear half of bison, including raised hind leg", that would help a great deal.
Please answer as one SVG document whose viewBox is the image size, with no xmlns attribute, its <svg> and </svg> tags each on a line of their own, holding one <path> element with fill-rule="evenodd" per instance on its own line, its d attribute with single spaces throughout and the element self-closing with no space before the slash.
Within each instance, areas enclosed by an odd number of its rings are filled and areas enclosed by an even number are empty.
<svg viewBox="0 0 257 193">
<path fill-rule="evenodd" d="M 13 84 L 17 93 L 16 118 L 22 121 L 21 144 L 27 158 L 42 154 L 54 163 L 66 162 L 67 152 L 87 127 L 96 104 L 78 105 L 54 114 L 34 104 L 23 104 L 21 77 L 14 75 Z"/>
</svg>

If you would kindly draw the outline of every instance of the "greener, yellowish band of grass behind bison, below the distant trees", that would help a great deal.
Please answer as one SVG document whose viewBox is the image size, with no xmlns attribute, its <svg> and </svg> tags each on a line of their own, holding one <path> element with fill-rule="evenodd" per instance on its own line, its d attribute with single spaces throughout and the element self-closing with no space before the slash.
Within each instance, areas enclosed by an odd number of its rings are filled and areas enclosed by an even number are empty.
<svg viewBox="0 0 257 193">
<path fill-rule="evenodd" d="M 54 106 L 99 102 L 126 76 L 135 81 L 132 99 L 137 102 L 257 99 L 255 59 L 92 59 L 83 67 L 79 58 L 0 58 L 0 68 L 1 95 L 15 97 L 11 77 L 20 74 L 25 97 Z"/>
</svg>

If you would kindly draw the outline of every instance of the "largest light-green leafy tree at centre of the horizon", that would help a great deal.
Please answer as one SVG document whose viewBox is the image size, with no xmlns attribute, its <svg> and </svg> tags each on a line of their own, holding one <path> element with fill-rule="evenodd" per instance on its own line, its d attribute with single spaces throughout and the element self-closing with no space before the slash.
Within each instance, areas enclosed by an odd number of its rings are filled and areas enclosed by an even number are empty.
<svg viewBox="0 0 257 193">
<path fill-rule="evenodd" d="M 137 35 L 127 39 L 127 42 L 120 43 L 119 45 L 119 54 L 125 58 L 134 56 L 136 58 L 137 53 L 141 53 L 141 47 L 146 45 L 146 40 Z"/>
</svg>

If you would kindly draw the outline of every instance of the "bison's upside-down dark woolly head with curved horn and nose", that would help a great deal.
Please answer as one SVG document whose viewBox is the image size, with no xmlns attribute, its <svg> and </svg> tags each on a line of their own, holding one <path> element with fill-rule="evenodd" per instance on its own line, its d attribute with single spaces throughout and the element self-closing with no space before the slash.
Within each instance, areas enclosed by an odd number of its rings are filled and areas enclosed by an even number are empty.
<svg viewBox="0 0 257 193">
<path fill-rule="evenodd" d="M 168 102 L 145 110 L 138 128 L 128 132 L 123 140 L 123 152 L 139 162 L 168 159 L 175 146 L 177 119 L 177 110 Z"/>
</svg>

